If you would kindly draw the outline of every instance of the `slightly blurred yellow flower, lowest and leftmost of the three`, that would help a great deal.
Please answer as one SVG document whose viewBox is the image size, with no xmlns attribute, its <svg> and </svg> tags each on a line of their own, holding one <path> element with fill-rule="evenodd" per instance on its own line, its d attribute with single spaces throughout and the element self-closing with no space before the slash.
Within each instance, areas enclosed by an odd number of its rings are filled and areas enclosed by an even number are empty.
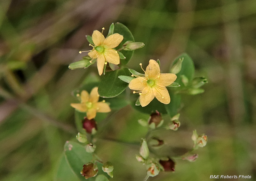
<svg viewBox="0 0 256 181">
<path fill-rule="evenodd" d="M 88 119 L 93 119 L 96 112 L 110 112 L 110 107 L 105 101 L 99 101 L 98 87 L 94 87 L 89 95 L 87 91 L 81 92 L 81 103 L 72 103 L 71 106 L 80 112 L 86 112 Z"/>
</svg>

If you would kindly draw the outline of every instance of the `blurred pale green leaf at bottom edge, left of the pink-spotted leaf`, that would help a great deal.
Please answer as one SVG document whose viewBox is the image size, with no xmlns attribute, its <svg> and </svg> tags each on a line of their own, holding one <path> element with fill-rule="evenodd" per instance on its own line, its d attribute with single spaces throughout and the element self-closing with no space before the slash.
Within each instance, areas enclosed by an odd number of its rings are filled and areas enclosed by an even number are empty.
<svg viewBox="0 0 256 181">
<path fill-rule="evenodd" d="M 75 173 L 71 170 L 66 157 L 62 154 L 57 174 L 55 176 L 55 181 L 79 181 Z"/>
</svg>

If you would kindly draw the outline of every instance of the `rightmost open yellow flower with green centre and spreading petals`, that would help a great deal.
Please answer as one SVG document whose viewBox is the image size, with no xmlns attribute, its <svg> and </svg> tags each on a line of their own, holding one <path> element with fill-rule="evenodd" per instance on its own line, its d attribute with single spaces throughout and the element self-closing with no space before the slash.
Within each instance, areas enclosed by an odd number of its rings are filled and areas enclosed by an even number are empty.
<svg viewBox="0 0 256 181">
<path fill-rule="evenodd" d="M 140 63 L 140 66 L 142 64 Z M 142 66 L 141 66 L 142 69 Z M 142 69 L 143 70 L 143 69 Z M 144 70 L 143 70 L 144 71 Z M 177 78 L 175 74 L 161 74 L 158 63 L 150 60 L 146 68 L 145 77 L 136 76 L 129 83 L 129 88 L 140 93 L 140 105 L 148 105 L 155 97 L 161 103 L 169 104 L 170 95 L 166 86 L 171 85 Z M 136 93 L 133 91 L 133 93 Z"/>
</svg>

